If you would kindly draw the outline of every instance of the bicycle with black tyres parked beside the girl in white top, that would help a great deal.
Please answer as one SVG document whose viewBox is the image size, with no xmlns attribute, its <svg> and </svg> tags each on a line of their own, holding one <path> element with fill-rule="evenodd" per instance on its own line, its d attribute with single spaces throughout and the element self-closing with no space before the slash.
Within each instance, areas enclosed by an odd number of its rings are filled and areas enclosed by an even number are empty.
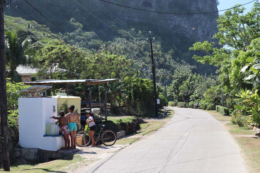
<svg viewBox="0 0 260 173">
<path fill-rule="evenodd" d="M 106 130 L 104 131 L 104 128 L 106 127 L 105 125 L 99 125 L 100 131 L 98 134 L 98 137 L 95 137 L 95 144 L 99 141 L 102 142 L 102 144 L 104 144 L 105 146 L 112 146 L 116 143 L 117 141 L 117 136 L 116 133 L 112 130 Z M 102 133 L 101 133 L 102 132 Z M 101 138 L 100 138 L 101 136 Z M 91 138 L 90 138 L 90 134 L 87 131 L 80 131 L 76 134 L 76 138 L 77 141 L 76 143 L 78 144 L 78 146 L 88 146 L 91 142 Z"/>
</svg>

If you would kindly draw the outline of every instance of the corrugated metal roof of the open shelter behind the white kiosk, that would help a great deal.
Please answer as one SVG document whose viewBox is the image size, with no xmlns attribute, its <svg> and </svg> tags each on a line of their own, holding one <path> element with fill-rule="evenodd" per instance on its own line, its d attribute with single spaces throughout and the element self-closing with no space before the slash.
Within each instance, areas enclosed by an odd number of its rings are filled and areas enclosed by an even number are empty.
<svg viewBox="0 0 260 173">
<path fill-rule="evenodd" d="M 86 83 L 88 85 L 103 84 L 117 79 L 78 79 L 78 80 L 39 80 L 33 82 L 24 82 L 25 85 L 48 85 L 48 84 L 71 84 Z"/>
</svg>

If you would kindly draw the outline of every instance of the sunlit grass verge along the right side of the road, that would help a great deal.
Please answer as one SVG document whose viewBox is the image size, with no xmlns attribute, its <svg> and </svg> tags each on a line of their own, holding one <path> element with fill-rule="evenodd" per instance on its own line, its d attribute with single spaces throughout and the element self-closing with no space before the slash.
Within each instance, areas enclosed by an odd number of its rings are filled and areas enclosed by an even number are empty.
<svg viewBox="0 0 260 173">
<path fill-rule="evenodd" d="M 230 121 L 230 116 L 223 116 L 214 110 L 206 110 L 219 121 Z M 222 117 L 221 117 L 222 116 Z M 254 135 L 255 132 L 247 127 L 239 127 L 237 124 L 227 123 L 225 124 L 228 128 L 228 131 L 234 135 L 234 139 L 237 144 L 240 146 L 243 156 L 247 160 L 247 165 L 249 167 L 248 172 L 259 172 L 260 167 L 260 139 L 253 137 L 245 137 L 238 135 Z"/>
</svg>

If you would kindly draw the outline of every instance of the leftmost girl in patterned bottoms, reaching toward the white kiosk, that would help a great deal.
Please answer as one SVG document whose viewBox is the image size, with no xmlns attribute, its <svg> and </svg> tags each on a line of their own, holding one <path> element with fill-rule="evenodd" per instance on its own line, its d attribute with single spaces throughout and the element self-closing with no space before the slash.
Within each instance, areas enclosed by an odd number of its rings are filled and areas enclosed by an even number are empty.
<svg viewBox="0 0 260 173">
<path fill-rule="evenodd" d="M 65 113 L 64 111 L 60 111 L 60 116 L 61 117 L 52 117 L 54 119 L 57 119 L 60 121 L 60 127 L 61 127 L 61 132 L 65 141 L 65 149 L 63 150 L 69 150 L 69 144 L 70 144 L 70 140 L 69 140 L 69 127 L 67 126 L 67 121 L 68 118 L 64 117 Z"/>
</svg>

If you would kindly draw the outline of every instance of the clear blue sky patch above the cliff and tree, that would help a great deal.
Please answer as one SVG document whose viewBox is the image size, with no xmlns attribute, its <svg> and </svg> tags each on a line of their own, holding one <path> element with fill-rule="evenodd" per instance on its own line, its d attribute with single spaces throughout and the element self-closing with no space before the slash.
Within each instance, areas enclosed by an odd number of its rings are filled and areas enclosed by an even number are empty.
<svg viewBox="0 0 260 173">
<path fill-rule="evenodd" d="M 223 9 L 229 9 L 232 6 L 236 5 L 236 4 L 246 4 L 247 2 L 251 2 L 252 0 L 218 0 L 219 5 L 217 6 L 218 10 L 223 10 Z M 243 5 L 243 7 L 246 8 L 245 12 L 247 13 L 252 5 L 254 4 L 254 2 L 251 2 L 247 5 Z M 223 14 L 225 11 L 221 11 L 219 12 L 219 14 Z"/>
</svg>

